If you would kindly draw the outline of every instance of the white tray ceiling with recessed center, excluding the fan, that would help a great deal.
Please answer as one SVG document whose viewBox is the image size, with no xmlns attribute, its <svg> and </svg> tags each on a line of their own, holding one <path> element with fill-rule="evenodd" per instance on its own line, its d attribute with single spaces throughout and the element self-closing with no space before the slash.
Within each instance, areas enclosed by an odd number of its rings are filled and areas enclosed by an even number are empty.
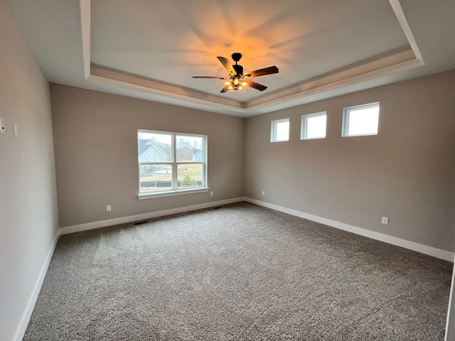
<svg viewBox="0 0 455 341">
<path fill-rule="evenodd" d="M 238 117 L 455 68 L 454 0 L 6 3 L 50 82 Z M 192 78 L 234 52 L 267 90 Z"/>
</svg>

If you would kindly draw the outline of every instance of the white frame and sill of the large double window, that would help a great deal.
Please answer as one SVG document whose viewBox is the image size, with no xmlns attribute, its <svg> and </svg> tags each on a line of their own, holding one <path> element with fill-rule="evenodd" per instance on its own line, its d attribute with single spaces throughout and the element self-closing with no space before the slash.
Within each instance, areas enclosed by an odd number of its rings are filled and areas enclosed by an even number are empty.
<svg viewBox="0 0 455 341">
<path fill-rule="evenodd" d="M 154 161 L 154 162 L 141 162 L 139 157 L 139 134 L 162 134 L 171 136 L 171 161 Z M 202 161 L 178 161 L 177 160 L 177 136 L 190 136 L 202 138 Z M 138 180 L 139 180 L 139 193 L 137 195 L 139 200 L 151 199 L 155 197 L 170 197 L 174 195 L 186 195 L 193 193 L 203 193 L 208 192 L 208 183 L 207 183 L 207 135 L 201 134 L 187 134 L 187 133 L 176 133 L 171 131 L 156 131 L 156 130 L 147 130 L 147 129 L 137 129 L 137 161 L 138 161 Z M 202 165 L 202 185 L 191 187 L 191 188 L 178 188 L 178 165 L 179 164 L 200 164 Z M 171 166 L 172 177 L 171 177 L 171 190 L 157 190 L 153 193 L 143 192 L 141 193 L 141 166 Z"/>
</svg>

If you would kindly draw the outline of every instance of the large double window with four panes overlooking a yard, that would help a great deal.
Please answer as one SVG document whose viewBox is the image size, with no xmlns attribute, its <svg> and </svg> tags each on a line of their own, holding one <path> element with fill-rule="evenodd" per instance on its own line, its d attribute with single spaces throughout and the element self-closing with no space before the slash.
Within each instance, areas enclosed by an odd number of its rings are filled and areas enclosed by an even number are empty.
<svg viewBox="0 0 455 341">
<path fill-rule="evenodd" d="M 207 136 L 138 130 L 137 146 L 139 199 L 208 190 Z"/>
</svg>

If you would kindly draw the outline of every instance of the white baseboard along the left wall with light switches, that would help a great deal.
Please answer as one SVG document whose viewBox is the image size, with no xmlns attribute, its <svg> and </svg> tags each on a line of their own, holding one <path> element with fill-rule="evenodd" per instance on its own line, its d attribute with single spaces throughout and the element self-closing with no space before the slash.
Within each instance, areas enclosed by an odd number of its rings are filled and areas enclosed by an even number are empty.
<svg viewBox="0 0 455 341">
<path fill-rule="evenodd" d="M 41 266 L 40 274 L 38 275 L 38 278 L 36 278 L 35 286 L 33 286 L 33 291 L 31 292 L 30 298 L 28 298 L 26 309 L 22 314 L 21 322 L 18 324 L 18 328 L 16 329 L 16 333 L 14 334 L 13 340 L 15 341 L 21 341 L 23 339 L 23 335 L 25 335 L 26 333 L 28 322 L 30 321 L 31 318 L 31 313 L 33 313 L 33 308 L 35 308 L 36 300 L 38 299 L 38 295 L 41 291 L 41 286 L 43 286 L 45 274 L 48 272 L 50 259 L 52 259 L 55 247 L 57 246 L 58 237 L 60 237 L 60 231 L 57 231 L 57 234 L 55 234 L 54 240 L 50 245 L 48 254 L 45 256 L 43 266 Z"/>
</svg>

